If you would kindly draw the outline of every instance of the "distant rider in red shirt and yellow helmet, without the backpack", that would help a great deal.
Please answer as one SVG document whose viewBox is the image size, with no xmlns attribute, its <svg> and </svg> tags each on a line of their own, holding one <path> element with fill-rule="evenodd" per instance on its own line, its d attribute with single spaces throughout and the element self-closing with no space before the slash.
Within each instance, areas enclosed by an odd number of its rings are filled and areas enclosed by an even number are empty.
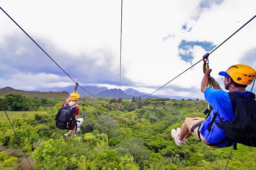
<svg viewBox="0 0 256 170">
<path fill-rule="evenodd" d="M 65 105 L 72 107 L 73 119 L 75 120 L 74 122 L 72 122 L 71 126 L 68 128 L 69 131 L 64 134 L 65 138 L 67 138 L 71 134 L 75 136 L 77 132 L 80 131 L 79 127 L 83 123 L 83 118 L 76 119 L 76 116 L 80 114 L 80 108 L 77 106 L 79 98 L 80 96 L 77 93 L 77 91 L 74 91 L 73 93 L 70 94 L 67 101 L 62 103 L 62 107 L 64 107 Z"/>
</svg>

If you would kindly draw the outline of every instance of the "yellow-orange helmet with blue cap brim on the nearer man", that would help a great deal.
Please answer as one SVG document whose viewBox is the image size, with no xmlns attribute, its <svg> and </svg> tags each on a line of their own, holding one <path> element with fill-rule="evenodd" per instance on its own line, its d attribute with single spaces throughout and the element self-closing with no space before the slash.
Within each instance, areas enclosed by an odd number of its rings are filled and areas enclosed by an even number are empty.
<svg viewBox="0 0 256 170">
<path fill-rule="evenodd" d="M 245 64 L 236 64 L 229 67 L 226 71 L 219 72 L 219 75 L 227 76 L 234 80 L 234 82 L 243 85 L 249 85 L 253 82 L 256 72 L 255 70 Z"/>
</svg>

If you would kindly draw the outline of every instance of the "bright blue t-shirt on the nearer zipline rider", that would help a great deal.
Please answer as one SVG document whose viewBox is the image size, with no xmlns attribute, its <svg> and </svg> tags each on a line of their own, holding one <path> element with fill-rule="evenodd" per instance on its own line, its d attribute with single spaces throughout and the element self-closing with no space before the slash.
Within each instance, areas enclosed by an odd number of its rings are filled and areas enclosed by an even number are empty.
<svg viewBox="0 0 256 170">
<path fill-rule="evenodd" d="M 241 91 L 233 91 L 237 93 L 243 93 Z M 231 121 L 234 118 L 234 113 L 232 109 L 232 104 L 230 101 L 230 98 L 228 96 L 228 92 L 223 90 L 215 90 L 213 88 L 206 88 L 204 91 L 205 99 L 210 103 L 210 105 L 214 108 L 214 110 L 211 112 L 211 115 L 201 124 L 201 127 L 199 129 L 202 136 L 204 136 L 205 140 L 210 143 L 214 144 L 221 140 L 223 140 L 226 137 L 226 134 L 224 130 L 217 127 L 217 125 L 214 123 L 212 125 L 212 130 L 209 132 L 207 128 L 210 125 L 210 122 L 217 112 L 216 122 L 220 123 L 220 117 L 222 117 L 223 121 Z M 246 95 L 245 95 L 246 96 Z M 218 148 L 223 148 L 227 146 L 227 144 L 230 142 L 230 140 L 225 141 L 224 143 L 217 145 Z M 235 141 L 231 143 L 231 146 L 235 144 Z"/>
</svg>

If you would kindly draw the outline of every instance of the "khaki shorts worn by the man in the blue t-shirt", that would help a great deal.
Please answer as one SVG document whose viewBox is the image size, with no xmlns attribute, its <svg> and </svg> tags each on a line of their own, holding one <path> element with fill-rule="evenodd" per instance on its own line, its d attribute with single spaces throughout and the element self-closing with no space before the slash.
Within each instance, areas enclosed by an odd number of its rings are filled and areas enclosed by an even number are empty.
<svg viewBox="0 0 256 170">
<path fill-rule="evenodd" d="M 191 118 L 191 117 L 186 117 L 184 123 L 187 125 L 187 127 L 188 127 L 188 129 L 189 129 L 189 131 L 190 131 L 191 128 L 192 128 L 196 123 L 202 122 L 202 121 L 204 121 L 204 120 L 205 120 L 205 119 L 204 119 L 204 118 L 201 118 L 201 117 L 193 117 L 193 118 Z M 195 136 L 199 139 L 199 137 L 198 137 L 198 128 L 199 128 L 199 126 L 197 126 L 196 128 L 194 128 L 194 131 L 191 132 L 191 133 L 192 133 L 193 135 L 195 135 Z M 202 140 L 204 143 L 209 144 L 209 143 L 204 139 L 204 136 L 201 135 L 201 133 L 200 133 L 200 138 L 201 138 L 201 140 Z M 217 148 L 217 147 L 215 147 L 215 146 L 211 146 L 211 147 L 212 147 L 212 148 Z"/>
</svg>

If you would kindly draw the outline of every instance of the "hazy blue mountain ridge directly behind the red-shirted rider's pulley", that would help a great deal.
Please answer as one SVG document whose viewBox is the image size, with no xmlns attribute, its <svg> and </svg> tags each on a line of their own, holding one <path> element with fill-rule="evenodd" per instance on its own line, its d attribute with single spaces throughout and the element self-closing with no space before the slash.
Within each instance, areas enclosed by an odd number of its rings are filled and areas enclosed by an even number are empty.
<svg viewBox="0 0 256 170">
<path fill-rule="evenodd" d="M 96 95 L 102 91 L 108 90 L 106 87 L 96 87 L 96 86 L 82 86 L 86 91 L 91 93 L 92 95 Z M 69 94 L 73 93 L 75 86 L 68 86 L 68 87 L 51 87 L 51 88 L 37 88 L 35 91 L 68 91 Z M 87 93 L 81 87 L 77 88 L 77 91 L 80 96 L 88 96 L 92 97 L 89 93 Z"/>
</svg>

